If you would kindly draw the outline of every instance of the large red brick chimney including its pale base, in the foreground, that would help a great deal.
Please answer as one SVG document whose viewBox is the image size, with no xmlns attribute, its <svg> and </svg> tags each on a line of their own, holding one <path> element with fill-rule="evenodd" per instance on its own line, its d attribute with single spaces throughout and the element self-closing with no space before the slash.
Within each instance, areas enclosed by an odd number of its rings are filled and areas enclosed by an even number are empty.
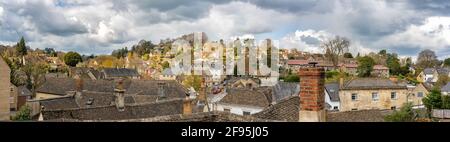
<svg viewBox="0 0 450 142">
<path fill-rule="evenodd" d="M 325 122 L 325 71 L 319 67 L 301 68 L 300 77 L 300 122 Z"/>
</svg>

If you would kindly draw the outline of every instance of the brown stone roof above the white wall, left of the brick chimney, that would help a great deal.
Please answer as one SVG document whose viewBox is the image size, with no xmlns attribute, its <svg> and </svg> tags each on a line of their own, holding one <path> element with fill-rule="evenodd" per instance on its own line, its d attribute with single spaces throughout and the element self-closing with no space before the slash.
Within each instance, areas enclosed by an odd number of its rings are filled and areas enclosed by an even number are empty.
<svg viewBox="0 0 450 142">
<path fill-rule="evenodd" d="M 219 103 L 255 107 L 267 107 L 270 104 L 264 93 L 251 89 L 228 89 L 227 95 Z"/>
</svg>

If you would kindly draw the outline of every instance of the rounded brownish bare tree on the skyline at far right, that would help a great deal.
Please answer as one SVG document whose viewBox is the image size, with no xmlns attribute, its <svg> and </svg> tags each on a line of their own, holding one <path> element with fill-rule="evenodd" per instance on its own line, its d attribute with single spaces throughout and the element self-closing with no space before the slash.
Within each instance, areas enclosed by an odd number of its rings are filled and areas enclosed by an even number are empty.
<svg viewBox="0 0 450 142">
<path fill-rule="evenodd" d="M 423 50 L 417 57 L 417 66 L 420 68 L 432 68 L 438 64 L 436 53 L 429 49 Z"/>
</svg>

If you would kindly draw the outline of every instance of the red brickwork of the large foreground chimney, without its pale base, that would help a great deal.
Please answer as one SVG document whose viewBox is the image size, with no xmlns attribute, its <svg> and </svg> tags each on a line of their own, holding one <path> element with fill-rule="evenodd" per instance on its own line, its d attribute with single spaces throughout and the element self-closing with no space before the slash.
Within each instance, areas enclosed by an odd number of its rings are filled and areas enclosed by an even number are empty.
<svg viewBox="0 0 450 142">
<path fill-rule="evenodd" d="M 324 84 L 325 71 L 323 68 L 301 68 L 300 77 L 300 109 L 319 111 L 325 107 Z"/>
</svg>

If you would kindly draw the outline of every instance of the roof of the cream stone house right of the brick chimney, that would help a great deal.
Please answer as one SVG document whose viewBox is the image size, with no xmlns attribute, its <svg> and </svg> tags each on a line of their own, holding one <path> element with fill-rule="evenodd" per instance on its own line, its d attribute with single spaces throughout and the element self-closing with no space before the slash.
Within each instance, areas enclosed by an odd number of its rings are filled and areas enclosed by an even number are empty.
<svg viewBox="0 0 450 142">
<path fill-rule="evenodd" d="M 342 90 L 357 89 L 407 89 L 407 87 L 384 78 L 357 78 L 344 83 L 342 88 Z"/>
</svg>

